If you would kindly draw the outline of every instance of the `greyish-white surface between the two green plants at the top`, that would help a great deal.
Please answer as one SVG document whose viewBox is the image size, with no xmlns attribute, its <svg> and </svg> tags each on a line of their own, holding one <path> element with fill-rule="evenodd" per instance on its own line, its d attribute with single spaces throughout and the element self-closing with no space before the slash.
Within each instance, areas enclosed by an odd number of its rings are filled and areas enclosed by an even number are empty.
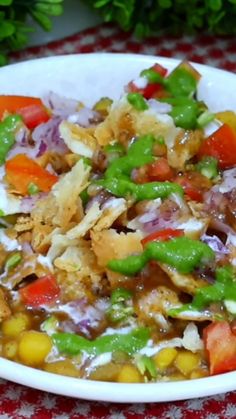
<svg viewBox="0 0 236 419">
<path fill-rule="evenodd" d="M 95 26 L 101 22 L 98 14 L 91 10 L 85 1 L 65 0 L 64 14 L 52 18 L 53 30 L 44 32 L 33 23 L 36 31 L 30 34 L 30 45 L 41 45 L 57 39 L 63 39 L 66 36 Z"/>
</svg>

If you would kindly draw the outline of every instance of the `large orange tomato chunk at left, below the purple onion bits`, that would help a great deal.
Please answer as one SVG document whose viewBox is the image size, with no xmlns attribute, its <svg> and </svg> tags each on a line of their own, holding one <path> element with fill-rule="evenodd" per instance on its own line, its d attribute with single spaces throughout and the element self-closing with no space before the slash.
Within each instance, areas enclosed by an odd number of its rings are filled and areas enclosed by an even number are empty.
<svg viewBox="0 0 236 419">
<path fill-rule="evenodd" d="M 17 154 L 5 165 L 7 181 L 22 195 L 28 194 L 32 183 L 41 192 L 49 192 L 58 177 L 49 173 L 34 160 L 24 154 Z"/>
</svg>

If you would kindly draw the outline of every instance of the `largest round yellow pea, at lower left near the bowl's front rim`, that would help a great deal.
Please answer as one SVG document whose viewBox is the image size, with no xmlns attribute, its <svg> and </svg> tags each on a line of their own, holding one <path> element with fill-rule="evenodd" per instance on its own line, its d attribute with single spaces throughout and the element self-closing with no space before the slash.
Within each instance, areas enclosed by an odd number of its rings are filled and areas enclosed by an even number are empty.
<svg viewBox="0 0 236 419">
<path fill-rule="evenodd" d="M 44 362 L 51 348 L 52 341 L 48 335 L 29 330 L 20 337 L 18 355 L 24 364 L 38 366 Z"/>
</svg>

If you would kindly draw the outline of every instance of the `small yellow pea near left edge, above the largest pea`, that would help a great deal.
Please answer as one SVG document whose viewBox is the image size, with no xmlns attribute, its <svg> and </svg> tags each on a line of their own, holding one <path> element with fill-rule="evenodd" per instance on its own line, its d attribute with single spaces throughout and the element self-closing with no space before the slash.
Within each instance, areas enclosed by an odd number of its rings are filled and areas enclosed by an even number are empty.
<svg viewBox="0 0 236 419">
<path fill-rule="evenodd" d="M 29 316 L 26 313 L 16 313 L 2 322 L 2 333 L 13 338 L 29 327 Z"/>
</svg>

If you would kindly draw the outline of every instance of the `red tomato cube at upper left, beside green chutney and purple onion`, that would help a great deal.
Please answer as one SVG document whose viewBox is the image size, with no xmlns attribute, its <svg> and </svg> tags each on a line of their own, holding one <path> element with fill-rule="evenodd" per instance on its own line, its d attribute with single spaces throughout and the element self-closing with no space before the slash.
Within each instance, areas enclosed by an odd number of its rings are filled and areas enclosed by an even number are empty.
<svg viewBox="0 0 236 419">
<path fill-rule="evenodd" d="M 50 119 L 50 115 L 43 105 L 26 106 L 19 109 L 17 113 L 22 116 L 25 125 L 29 129 L 34 129 L 39 124 Z"/>
</svg>

